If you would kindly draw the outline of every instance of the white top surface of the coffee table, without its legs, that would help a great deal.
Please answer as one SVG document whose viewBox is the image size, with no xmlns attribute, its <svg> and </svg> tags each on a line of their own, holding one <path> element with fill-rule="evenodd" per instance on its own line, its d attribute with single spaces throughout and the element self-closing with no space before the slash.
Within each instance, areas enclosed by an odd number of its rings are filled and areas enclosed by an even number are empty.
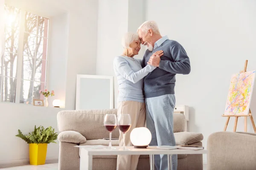
<svg viewBox="0 0 256 170">
<path fill-rule="evenodd" d="M 133 146 L 128 146 L 129 150 L 123 150 L 122 147 L 114 147 L 116 149 L 108 149 L 106 146 L 75 146 L 79 147 L 81 151 L 87 152 L 88 155 L 174 155 L 174 154 L 206 154 L 207 150 L 187 150 L 187 149 L 138 149 Z"/>
</svg>

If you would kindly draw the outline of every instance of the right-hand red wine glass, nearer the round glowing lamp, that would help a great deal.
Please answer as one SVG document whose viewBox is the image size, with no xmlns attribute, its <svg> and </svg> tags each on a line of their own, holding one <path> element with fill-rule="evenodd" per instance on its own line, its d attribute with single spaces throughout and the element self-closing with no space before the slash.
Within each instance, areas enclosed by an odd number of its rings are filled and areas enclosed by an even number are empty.
<svg viewBox="0 0 256 170">
<path fill-rule="evenodd" d="M 123 150 L 128 150 L 127 147 L 125 147 L 125 133 L 131 128 L 131 116 L 129 114 L 119 114 L 117 116 L 117 126 L 123 133 Z"/>
</svg>

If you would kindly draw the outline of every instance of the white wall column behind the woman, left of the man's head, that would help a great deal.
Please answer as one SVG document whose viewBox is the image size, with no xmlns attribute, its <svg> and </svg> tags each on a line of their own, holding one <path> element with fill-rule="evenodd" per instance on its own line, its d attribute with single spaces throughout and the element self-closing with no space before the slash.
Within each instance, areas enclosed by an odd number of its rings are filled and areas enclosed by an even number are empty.
<svg viewBox="0 0 256 170">
<path fill-rule="evenodd" d="M 114 105 L 117 106 L 118 85 L 113 71 L 113 59 L 123 52 L 121 40 L 127 31 L 136 33 L 145 20 L 145 0 L 101 0 L 98 13 L 98 43 L 96 74 L 114 76 Z M 143 58 L 142 47 L 135 58 Z"/>
</svg>

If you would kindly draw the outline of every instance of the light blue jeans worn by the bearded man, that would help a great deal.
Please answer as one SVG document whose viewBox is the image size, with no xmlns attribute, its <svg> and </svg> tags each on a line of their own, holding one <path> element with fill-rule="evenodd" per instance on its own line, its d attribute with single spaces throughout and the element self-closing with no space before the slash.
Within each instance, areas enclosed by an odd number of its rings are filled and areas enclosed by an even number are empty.
<svg viewBox="0 0 256 170">
<path fill-rule="evenodd" d="M 152 134 L 149 145 L 175 146 L 173 134 L 173 110 L 175 107 L 175 94 L 146 98 L 146 122 L 147 128 Z M 167 170 L 167 155 L 155 155 L 154 164 L 156 170 Z M 172 155 L 172 170 L 177 170 L 177 155 Z"/>
</svg>

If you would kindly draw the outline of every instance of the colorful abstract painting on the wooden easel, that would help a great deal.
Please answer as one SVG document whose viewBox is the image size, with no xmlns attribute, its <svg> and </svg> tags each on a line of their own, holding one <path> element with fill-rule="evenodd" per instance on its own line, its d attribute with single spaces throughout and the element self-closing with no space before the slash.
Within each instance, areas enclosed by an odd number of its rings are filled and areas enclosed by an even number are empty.
<svg viewBox="0 0 256 170">
<path fill-rule="evenodd" d="M 255 71 L 232 75 L 224 115 L 246 115 L 249 113 L 254 79 Z"/>
</svg>

